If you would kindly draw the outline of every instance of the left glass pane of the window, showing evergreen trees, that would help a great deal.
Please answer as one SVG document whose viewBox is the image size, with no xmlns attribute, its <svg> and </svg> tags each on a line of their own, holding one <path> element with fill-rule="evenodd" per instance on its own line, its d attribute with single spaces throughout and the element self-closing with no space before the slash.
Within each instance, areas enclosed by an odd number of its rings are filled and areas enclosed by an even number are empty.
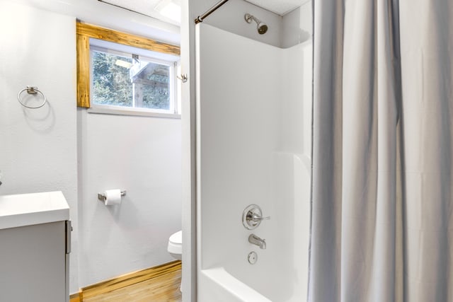
<svg viewBox="0 0 453 302">
<path fill-rule="evenodd" d="M 132 59 L 98 51 L 92 55 L 93 103 L 132 107 Z"/>
</svg>

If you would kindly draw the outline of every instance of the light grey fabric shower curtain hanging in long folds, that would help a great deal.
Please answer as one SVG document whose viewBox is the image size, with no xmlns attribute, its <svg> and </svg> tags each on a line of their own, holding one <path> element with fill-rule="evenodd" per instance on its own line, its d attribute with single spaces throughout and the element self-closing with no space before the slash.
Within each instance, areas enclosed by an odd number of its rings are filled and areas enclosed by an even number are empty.
<svg viewBox="0 0 453 302">
<path fill-rule="evenodd" d="M 309 301 L 453 301 L 453 1 L 314 0 Z"/>
</svg>

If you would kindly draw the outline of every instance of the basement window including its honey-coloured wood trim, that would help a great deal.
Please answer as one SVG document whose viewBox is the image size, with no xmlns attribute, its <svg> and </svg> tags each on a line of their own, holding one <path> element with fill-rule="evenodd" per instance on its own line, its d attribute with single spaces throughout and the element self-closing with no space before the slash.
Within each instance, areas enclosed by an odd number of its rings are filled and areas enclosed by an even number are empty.
<svg viewBox="0 0 453 302">
<path fill-rule="evenodd" d="M 139 37 L 112 30 L 93 34 L 98 30 L 105 31 L 77 23 L 77 105 L 91 112 L 178 115 L 179 47 L 144 38 L 137 43 Z"/>
</svg>

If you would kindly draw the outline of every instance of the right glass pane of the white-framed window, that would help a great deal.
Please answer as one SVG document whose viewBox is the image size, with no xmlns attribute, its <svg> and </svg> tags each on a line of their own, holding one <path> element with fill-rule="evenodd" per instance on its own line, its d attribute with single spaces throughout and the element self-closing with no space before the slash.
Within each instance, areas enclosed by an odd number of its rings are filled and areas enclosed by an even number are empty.
<svg viewBox="0 0 453 302">
<path fill-rule="evenodd" d="M 169 66 L 135 61 L 130 69 L 136 107 L 170 109 Z"/>
</svg>

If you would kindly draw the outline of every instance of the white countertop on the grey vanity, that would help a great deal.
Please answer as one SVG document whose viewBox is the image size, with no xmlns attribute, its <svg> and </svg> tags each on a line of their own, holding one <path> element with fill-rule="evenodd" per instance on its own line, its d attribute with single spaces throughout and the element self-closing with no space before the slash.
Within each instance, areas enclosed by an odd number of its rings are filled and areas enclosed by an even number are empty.
<svg viewBox="0 0 453 302">
<path fill-rule="evenodd" d="M 0 196 L 0 229 L 69 220 L 60 191 Z"/>
</svg>

